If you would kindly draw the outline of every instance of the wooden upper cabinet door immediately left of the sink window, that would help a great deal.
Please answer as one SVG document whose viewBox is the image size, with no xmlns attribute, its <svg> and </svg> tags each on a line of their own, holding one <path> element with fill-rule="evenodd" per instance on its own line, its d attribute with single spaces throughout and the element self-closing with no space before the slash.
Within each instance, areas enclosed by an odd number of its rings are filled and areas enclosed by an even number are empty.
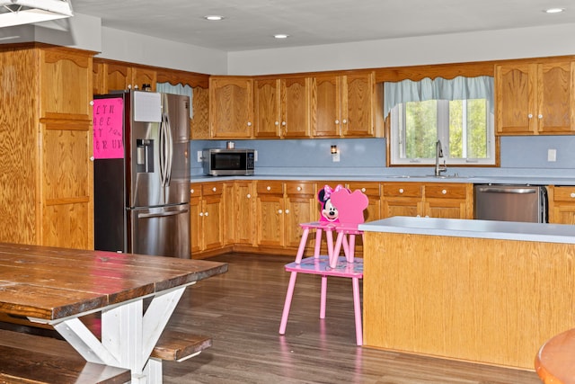
<svg viewBox="0 0 575 384">
<path fill-rule="evenodd" d="M 345 137 L 373 137 L 373 72 L 341 76 L 341 129 Z"/>
</svg>

